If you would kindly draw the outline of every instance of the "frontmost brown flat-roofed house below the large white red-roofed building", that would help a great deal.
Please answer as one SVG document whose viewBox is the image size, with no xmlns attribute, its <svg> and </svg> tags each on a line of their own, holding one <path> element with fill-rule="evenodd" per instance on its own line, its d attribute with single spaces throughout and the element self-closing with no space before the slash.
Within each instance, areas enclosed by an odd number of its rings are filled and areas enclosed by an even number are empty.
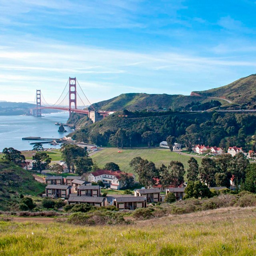
<svg viewBox="0 0 256 256">
<path fill-rule="evenodd" d="M 147 200 L 145 196 L 122 196 L 114 198 L 112 204 L 120 210 L 135 210 L 146 208 Z"/>
</svg>

